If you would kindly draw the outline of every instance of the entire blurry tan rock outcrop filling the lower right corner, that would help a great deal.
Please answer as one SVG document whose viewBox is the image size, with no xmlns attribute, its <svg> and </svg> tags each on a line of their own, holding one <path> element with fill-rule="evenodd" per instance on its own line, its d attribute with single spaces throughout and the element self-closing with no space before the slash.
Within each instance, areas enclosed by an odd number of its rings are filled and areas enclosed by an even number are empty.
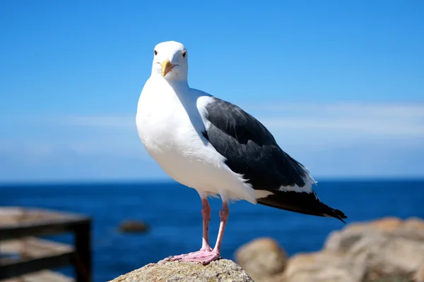
<svg viewBox="0 0 424 282">
<path fill-rule="evenodd" d="M 352 223 L 324 249 L 290 258 L 279 281 L 422 281 L 424 221 L 385 218 Z"/>
</svg>

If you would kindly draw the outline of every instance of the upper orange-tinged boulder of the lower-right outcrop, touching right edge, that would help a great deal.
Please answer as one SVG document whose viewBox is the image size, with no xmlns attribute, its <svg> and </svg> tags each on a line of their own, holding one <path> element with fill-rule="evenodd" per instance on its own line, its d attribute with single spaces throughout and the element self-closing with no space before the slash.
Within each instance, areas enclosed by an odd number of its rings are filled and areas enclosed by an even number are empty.
<svg viewBox="0 0 424 282">
<path fill-rule="evenodd" d="M 355 223 L 331 233 L 324 252 L 339 252 L 351 264 L 363 265 L 365 281 L 395 276 L 409 279 L 424 262 L 423 231 L 424 221 L 420 219 Z"/>
</svg>

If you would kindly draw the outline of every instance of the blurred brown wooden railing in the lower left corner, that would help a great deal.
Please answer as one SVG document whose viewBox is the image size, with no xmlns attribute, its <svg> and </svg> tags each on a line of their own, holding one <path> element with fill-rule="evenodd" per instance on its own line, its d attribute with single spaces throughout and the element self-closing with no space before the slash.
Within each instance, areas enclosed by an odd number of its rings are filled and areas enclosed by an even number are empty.
<svg viewBox="0 0 424 282">
<path fill-rule="evenodd" d="M 73 233 L 73 245 L 35 236 Z M 91 281 L 91 219 L 42 209 L 0 207 L 0 280 L 73 265 Z"/>
</svg>

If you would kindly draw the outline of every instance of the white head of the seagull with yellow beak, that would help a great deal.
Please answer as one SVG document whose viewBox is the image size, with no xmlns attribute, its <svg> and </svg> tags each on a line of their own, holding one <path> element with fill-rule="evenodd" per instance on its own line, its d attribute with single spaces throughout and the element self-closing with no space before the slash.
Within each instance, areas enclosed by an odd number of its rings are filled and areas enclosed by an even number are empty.
<svg viewBox="0 0 424 282">
<path fill-rule="evenodd" d="M 175 41 L 161 42 L 153 51 L 152 76 L 165 80 L 187 80 L 189 63 L 187 49 Z"/>
</svg>

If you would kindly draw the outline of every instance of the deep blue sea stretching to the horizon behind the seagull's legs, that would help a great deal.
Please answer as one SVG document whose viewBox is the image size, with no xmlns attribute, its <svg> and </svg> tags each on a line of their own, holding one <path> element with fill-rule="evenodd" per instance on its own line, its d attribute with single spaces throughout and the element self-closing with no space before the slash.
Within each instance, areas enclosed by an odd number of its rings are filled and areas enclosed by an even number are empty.
<svg viewBox="0 0 424 282">
<path fill-rule="evenodd" d="M 347 223 L 382 216 L 424 218 L 424 180 L 320 181 L 320 199 L 348 216 Z M 221 207 L 212 207 L 211 244 L 218 232 Z M 41 207 L 86 214 L 93 218 L 93 278 L 109 281 L 170 255 L 201 245 L 201 202 L 195 190 L 177 183 L 107 183 L 0 186 L 0 206 Z M 125 219 L 146 221 L 148 233 L 117 231 Z M 234 259 L 240 245 L 267 236 L 293 255 L 319 250 L 331 231 L 343 228 L 336 219 L 285 212 L 236 202 L 223 238 L 222 256 Z M 55 237 L 71 243 L 70 235 Z M 71 269 L 60 269 L 72 274 Z"/>
</svg>

